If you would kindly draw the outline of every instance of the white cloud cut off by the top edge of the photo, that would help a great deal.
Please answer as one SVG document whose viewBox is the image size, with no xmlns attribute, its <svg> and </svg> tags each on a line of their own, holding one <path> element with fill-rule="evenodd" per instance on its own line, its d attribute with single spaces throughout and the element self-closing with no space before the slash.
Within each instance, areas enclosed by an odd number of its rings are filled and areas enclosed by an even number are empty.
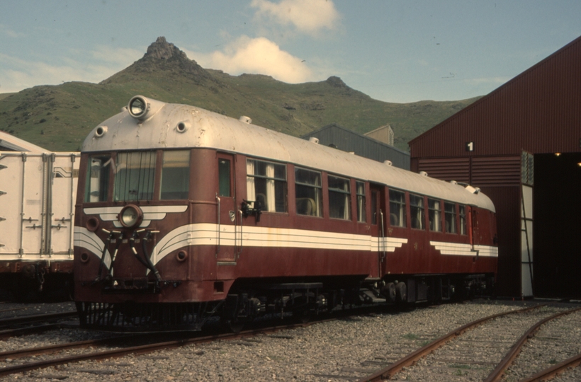
<svg viewBox="0 0 581 382">
<path fill-rule="evenodd" d="M 282 25 L 295 25 L 303 33 L 315 34 L 319 30 L 333 29 L 339 21 L 339 12 L 331 0 L 252 0 L 258 8 L 256 16 L 273 18 Z"/>
</svg>

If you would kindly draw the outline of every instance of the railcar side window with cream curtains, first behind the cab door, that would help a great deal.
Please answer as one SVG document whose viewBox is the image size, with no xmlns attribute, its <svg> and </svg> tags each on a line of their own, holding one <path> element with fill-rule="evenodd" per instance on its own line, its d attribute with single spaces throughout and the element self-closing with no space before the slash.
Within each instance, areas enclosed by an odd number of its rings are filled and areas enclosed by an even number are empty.
<svg viewBox="0 0 581 382">
<path fill-rule="evenodd" d="M 247 159 L 247 198 L 254 208 L 286 212 L 286 166 Z"/>
</svg>

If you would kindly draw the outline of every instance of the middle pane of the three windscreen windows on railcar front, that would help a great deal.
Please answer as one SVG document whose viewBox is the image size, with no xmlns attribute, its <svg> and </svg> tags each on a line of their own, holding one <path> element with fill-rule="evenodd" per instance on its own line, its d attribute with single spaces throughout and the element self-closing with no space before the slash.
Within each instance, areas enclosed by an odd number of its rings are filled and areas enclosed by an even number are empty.
<svg viewBox="0 0 581 382">
<path fill-rule="evenodd" d="M 155 180 L 155 152 L 131 151 L 117 154 L 113 200 L 151 200 Z"/>
</svg>

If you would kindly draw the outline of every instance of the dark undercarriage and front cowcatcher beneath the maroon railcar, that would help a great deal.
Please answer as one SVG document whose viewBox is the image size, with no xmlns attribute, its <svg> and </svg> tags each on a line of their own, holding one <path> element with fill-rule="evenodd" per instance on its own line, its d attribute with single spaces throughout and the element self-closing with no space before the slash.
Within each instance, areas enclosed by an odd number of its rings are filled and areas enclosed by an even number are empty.
<svg viewBox="0 0 581 382">
<path fill-rule="evenodd" d="M 240 330 L 261 316 L 307 321 L 336 308 L 460 301 L 492 292 L 486 274 L 416 275 L 405 279 L 329 282 L 237 282 L 224 300 L 192 303 L 77 302 L 81 327 L 116 332 L 202 330 L 210 319 Z"/>
</svg>

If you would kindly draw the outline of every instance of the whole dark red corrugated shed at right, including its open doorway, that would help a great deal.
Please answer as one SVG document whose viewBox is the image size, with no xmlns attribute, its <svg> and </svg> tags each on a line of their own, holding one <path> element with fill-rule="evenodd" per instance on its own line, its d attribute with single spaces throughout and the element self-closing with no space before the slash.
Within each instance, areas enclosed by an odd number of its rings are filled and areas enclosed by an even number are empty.
<svg viewBox="0 0 581 382">
<path fill-rule="evenodd" d="M 410 141 L 410 152 L 412 170 L 471 183 L 495 203 L 497 294 L 581 297 L 578 235 L 556 236 L 581 228 L 581 37 Z"/>
</svg>

